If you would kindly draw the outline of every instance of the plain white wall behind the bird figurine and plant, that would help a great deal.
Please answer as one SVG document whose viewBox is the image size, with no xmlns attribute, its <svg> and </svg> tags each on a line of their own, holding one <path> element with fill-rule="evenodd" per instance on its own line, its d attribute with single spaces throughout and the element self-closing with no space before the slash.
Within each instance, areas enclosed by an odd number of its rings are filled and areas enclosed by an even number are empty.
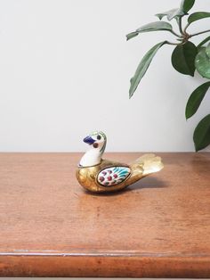
<svg viewBox="0 0 210 280">
<path fill-rule="evenodd" d="M 186 122 L 185 104 L 202 79 L 173 70 L 172 47 L 158 52 L 128 99 L 142 55 L 172 36 L 126 42 L 125 34 L 179 2 L 1 0 L 0 151 L 84 151 L 81 139 L 95 129 L 109 137 L 108 151 L 193 151 L 193 129 L 209 113 L 210 97 Z M 210 10 L 209 0 L 195 10 Z"/>
</svg>

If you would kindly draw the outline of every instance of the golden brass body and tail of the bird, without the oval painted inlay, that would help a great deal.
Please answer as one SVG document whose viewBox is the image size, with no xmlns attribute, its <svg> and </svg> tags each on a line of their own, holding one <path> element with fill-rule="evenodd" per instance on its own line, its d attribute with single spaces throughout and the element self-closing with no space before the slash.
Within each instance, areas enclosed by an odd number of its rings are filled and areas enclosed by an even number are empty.
<svg viewBox="0 0 210 280">
<path fill-rule="evenodd" d="M 125 181 L 112 186 L 101 185 L 97 181 L 97 176 L 102 169 L 111 167 L 128 167 L 131 169 L 131 174 L 125 179 Z M 161 158 L 154 154 L 145 154 L 136 161 L 131 162 L 129 165 L 116 161 L 101 160 L 101 163 L 92 167 L 78 167 L 76 171 L 76 177 L 80 185 L 86 190 L 93 193 L 109 193 L 122 190 L 128 185 L 132 185 L 142 177 L 146 177 L 149 174 L 158 172 L 163 169 L 163 163 Z"/>
</svg>

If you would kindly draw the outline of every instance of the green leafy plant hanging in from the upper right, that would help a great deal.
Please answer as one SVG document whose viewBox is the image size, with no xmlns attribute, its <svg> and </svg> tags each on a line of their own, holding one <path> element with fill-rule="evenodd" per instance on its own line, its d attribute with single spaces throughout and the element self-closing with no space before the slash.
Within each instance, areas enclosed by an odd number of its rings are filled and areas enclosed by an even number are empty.
<svg viewBox="0 0 210 280">
<path fill-rule="evenodd" d="M 210 12 L 193 12 L 189 15 L 188 12 L 194 4 L 195 0 L 182 0 L 179 8 L 156 14 L 159 21 L 144 25 L 140 29 L 136 29 L 126 36 L 127 40 L 129 40 L 138 36 L 140 33 L 162 30 L 171 32 L 177 40 L 176 42 L 169 42 L 166 40 L 160 42 L 157 45 L 154 45 L 149 52 L 143 56 L 133 78 L 131 78 L 131 86 L 129 90 L 130 98 L 133 96 L 137 86 L 139 86 L 141 78 L 143 78 L 148 70 L 153 57 L 163 45 L 175 45 L 171 58 L 175 70 L 192 77 L 194 76 L 195 70 L 197 70 L 200 76 L 210 79 L 210 36 L 206 37 L 198 45 L 194 45 L 190 41 L 193 37 L 210 32 L 210 29 L 194 34 L 188 33 L 188 28 L 191 23 L 204 18 L 210 18 Z M 182 18 L 185 16 L 188 16 L 187 24 L 182 27 Z M 166 19 L 167 21 L 162 21 L 162 19 Z M 172 24 L 168 22 L 172 20 L 176 22 L 178 31 L 175 31 Z M 198 111 L 198 107 L 209 87 L 210 81 L 198 86 L 198 88 L 192 92 L 186 105 L 186 119 L 189 119 L 196 113 L 196 111 Z M 193 140 L 196 151 L 202 150 L 210 144 L 210 114 L 206 115 L 204 119 L 199 121 L 198 126 L 194 131 Z"/>
</svg>

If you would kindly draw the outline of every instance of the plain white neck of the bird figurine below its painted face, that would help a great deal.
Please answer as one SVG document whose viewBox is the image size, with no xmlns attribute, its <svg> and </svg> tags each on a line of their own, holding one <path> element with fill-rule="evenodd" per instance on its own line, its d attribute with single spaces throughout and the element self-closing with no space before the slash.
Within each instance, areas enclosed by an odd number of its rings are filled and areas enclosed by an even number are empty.
<svg viewBox="0 0 210 280">
<path fill-rule="evenodd" d="M 101 162 L 101 156 L 103 152 L 100 149 L 91 148 L 87 152 L 85 152 L 84 156 L 82 157 L 79 165 L 82 167 L 90 167 L 97 165 Z"/>
</svg>

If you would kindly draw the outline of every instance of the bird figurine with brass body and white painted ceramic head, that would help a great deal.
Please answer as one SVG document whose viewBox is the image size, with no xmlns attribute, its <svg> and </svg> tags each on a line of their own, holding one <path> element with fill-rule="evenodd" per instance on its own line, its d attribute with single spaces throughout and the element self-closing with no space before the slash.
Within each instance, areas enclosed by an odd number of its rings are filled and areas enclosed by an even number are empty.
<svg viewBox="0 0 210 280">
<path fill-rule="evenodd" d="M 107 137 L 96 131 L 84 139 L 90 149 L 85 152 L 77 167 L 77 180 L 86 190 L 93 193 L 108 193 L 121 190 L 142 177 L 163 169 L 161 158 L 145 154 L 130 164 L 103 160 Z"/>
</svg>

